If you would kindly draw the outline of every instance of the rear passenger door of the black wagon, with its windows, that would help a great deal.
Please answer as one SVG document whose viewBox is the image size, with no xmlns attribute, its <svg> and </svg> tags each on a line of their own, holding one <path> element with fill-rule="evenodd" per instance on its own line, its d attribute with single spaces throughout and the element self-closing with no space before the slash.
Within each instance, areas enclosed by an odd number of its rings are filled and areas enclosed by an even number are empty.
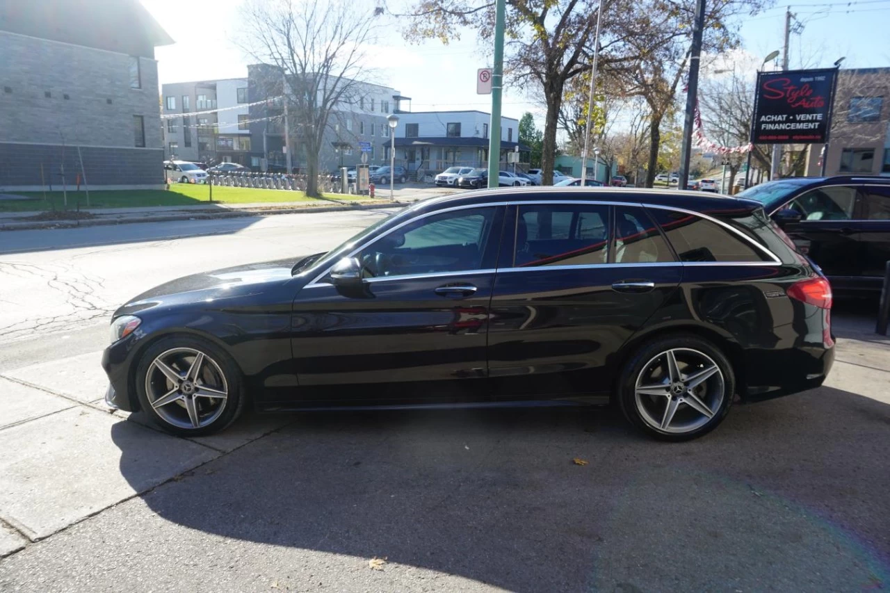
<svg viewBox="0 0 890 593">
<path fill-rule="evenodd" d="M 495 397 L 607 394 L 610 362 L 682 266 L 642 207 L 523 203 L 511 218 L 491 299 Z"/>
</svg>

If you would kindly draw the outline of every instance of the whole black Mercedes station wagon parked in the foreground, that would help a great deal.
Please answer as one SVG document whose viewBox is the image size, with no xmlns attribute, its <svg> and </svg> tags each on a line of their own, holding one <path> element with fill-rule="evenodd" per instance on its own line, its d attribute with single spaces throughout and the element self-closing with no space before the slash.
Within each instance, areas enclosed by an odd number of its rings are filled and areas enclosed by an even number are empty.
<svg viewBox="0 0 890 593">
<path fill-rule="evenodd" d="M 735 394 L 821 385 L 830 306 L 828 281 L 757 202 L 481 190 L 418 202 L 328 253 L 153 288 L 114 313 L 102 366 L 109 405 L 179 435 L 222 429 L 247 402 L 614 400 L 644 432 L 683 440 Z"/>
</svg>

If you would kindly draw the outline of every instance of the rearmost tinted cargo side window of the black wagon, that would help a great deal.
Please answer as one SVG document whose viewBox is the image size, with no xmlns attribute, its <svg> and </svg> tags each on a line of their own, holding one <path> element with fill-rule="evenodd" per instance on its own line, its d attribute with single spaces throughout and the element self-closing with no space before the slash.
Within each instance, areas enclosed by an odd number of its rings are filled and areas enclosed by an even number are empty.
<svg viewBox="0 0 890 593">
<path fill-rule="evenodd" d="M 720 224 L 697 215 L 649 208 L 683 262 L 771 261 L 759 249 Z"/>
</svg>

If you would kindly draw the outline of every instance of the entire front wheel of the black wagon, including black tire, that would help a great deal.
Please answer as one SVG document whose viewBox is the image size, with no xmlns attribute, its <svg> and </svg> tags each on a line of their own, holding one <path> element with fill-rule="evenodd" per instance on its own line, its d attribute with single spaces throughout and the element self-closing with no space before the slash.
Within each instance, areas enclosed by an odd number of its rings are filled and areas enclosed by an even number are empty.
<svg viewBox="0 0 890 593">
<path fill-rule="evenodd" d="M 198 353 L 203 358 L 193 379 Z M 166 365 L 166 372 L 157 361 Z M 179 376 L 178 389 L 168 373 Z M 244 408 L 244 378 L 238 366 L 228 353 L 200 337 L 170 336 L 150 345 L 136 366 L 135 386 L 146 416 L 171 435 L 213 435 L 231 425 Z M 161 399 L 168 401 L 157 405 Z"/>
</svg>

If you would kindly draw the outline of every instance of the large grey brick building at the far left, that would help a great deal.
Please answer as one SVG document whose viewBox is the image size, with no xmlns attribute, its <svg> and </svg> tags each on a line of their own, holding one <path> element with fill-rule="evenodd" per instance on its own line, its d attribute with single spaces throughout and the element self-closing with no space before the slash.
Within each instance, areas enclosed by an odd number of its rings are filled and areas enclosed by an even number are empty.
<svg viewBox="0 0 890 593">
<path fill-rule="evenodd" d="M 160 187 L 171 43 L 138 0 L 0 3 L 0 191 Z"/>
</svg>

